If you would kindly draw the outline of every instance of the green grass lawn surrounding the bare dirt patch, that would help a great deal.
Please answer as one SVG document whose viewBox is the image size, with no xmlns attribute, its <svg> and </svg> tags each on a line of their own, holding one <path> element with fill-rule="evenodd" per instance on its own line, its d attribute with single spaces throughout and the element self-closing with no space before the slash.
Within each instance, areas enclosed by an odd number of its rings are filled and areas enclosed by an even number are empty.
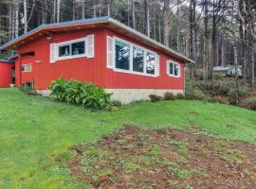
<svg viewBox="0 0 256 189">
<path fill-rule="evenodd" d="M 0 89 L 0 188 L 84 188 L 64 167 L 72 156 L 68 147 L 95 141 L 127 123 L 147 129 L 193 125 L 206 134 L 256 143 L 256 112 L 238 107 L 175 100 L 123 106 L 119 112 L 88 112 Z"/>
</svg>

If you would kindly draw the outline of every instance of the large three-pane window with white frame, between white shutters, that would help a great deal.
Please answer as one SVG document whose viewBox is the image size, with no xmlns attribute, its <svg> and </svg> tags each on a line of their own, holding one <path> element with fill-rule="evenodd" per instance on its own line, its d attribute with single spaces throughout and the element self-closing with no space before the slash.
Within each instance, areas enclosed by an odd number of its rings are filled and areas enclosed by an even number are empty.
<svg viewBox="0 0 256 189">
<path fill-rule="evenodd" d="M 114 47 L 115 71 L 156 76 L 158 62 L 154 52 L 118 38 L 115 38 Z"/>
</svg>

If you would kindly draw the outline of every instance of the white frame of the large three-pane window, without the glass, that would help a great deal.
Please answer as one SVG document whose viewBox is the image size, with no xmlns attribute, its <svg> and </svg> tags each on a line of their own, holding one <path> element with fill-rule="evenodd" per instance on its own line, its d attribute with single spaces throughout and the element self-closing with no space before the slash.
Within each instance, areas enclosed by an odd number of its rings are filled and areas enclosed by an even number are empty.
<svg viewBox="0 0 256 189">
<path fill-rule="evenodd" d="M 114 60 L 114 65 L 113 65 L 113 70 L 115 72 L 120 72 L 120 73 L 125 73 L 125 74 L 133 74 L 133 75 L 139 75 L 139 76 L 145 76 L 145 77 L 158 77 L 158 74 L 157 74 L 157 70 L 159 69 L 159 64 L 160 62 L 156 62 L 157 61 L 157 54 L 151 50 L 148 50 L 142 46 L 139 46 L 135 43 L 130 43 L 130 42 L 127 42 L 123 39 L 120 39 L 119 37 L 113 37 L 113 40 L 114 40 L 114 52 L 113 52 L 113 60 Z M 123 70 L 123 69 L 119 69 L 116 67 L 116 41 L 119 41 L 121 43 L 125 43 L 127 45 L 130 46 L 130 61 L 129 61 L 129 70 Z M 144 59 L 143 59 L 143 72 L 137 72 L 137 71 L 134 71 L 134 63 L 133 63 L 133 47 L 137 47 L 137 48 L 140 48 L 141 50 L 144 51 Z M 146 71 L 146 54 L 147 53 L 151 53 L 153 55 L 155 55 L 155 74 L 147 74 L 147 71 Z M 158 68 L 156 67 L 158 66 Z"/>
</svg>

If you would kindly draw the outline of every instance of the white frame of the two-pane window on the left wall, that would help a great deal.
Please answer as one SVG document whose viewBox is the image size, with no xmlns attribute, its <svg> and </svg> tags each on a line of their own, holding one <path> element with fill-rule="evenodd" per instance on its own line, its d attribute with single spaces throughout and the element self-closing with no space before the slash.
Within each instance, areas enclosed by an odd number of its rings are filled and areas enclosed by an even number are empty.
<svg viewBox="0 0 256 189">
<path fill-rule="evenodd" d="M 84 42 L 84 53 L 81 55 L 72 55 L 72 43 L 80 43 L 80 42 Z M 60 47 L 65 46 L 65 45 L 69 45 L 69 52 L 70 55 L 69 56 L 64 56 L 64 57 L 60 57 Z M 80 38 L 80 39 L 76 39 L 76 40 L 70 40 L 70 41 L 66 41 L 63 43 L 56 43 L 56 60 L 70 60 L 70 59 L 77 59 L 77 58 L 82 58 L 82 57 L 88 57 L 87 55 L 87 50 L 86 50 L 86 45 L 87 45 L 87 38 Z"/>
</svg>

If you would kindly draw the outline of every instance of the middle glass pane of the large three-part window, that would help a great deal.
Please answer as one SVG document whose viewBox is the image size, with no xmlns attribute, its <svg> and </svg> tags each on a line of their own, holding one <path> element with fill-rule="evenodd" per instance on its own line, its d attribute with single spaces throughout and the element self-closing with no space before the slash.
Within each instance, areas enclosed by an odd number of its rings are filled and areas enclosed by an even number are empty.
<svg viewBox="0 0 256 189">
<path fill-rule="evenodd" d="M 134 71 L 143 72 L 144 51 L 140 48 L 134 47 L 133 49 L 133 65 Z"/>
</svg>

